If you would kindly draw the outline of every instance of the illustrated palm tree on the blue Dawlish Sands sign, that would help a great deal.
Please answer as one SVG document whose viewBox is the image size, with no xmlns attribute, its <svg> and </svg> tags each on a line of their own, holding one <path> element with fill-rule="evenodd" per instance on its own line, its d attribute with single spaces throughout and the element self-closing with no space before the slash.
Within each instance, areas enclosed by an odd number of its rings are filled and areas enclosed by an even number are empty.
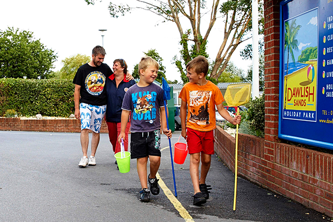
<svg viewBox="0 0 333 222">
<path fill-rule="evenodd" d="M 285 89 L 285 109 L 287 102 L 287 79 L 288 79 L 288 67 L 289 67 L 289 54 L 291 54 L 291 58 L 295 63 L 294 50 L 298 51 L 298 41 L 296 36 L 298 31 L 302 26 L 296 24 L 296 19 L 285 22 L 285 51 L 287 50 L 287 73 L 286 73 L 286 89 Z"/>
</svg>

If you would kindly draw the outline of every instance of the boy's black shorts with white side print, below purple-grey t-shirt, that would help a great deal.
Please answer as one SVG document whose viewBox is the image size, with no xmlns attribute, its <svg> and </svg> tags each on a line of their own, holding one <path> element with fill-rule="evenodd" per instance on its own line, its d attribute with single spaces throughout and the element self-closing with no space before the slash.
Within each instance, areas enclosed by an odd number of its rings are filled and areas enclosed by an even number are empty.
<svg viewBox="0 0 333 222">
<path fill-rule="evenodd" d="M 161 156 L 161 132 L 131 133 L 131 159 Z"/>
</svg>

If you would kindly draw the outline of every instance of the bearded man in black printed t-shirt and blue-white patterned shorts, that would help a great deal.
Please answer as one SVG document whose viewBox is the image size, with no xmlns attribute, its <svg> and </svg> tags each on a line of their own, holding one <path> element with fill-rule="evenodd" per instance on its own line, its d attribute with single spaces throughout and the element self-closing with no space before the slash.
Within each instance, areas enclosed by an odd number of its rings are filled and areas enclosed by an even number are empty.
<svg viewBox="0 0 333 222">
<path fill-rule="evenodd" d="M 106 78 L 113 74 L 103 63 L 106 52 L 102 46 L 92 50 L 92 60 L 82 65 L 75 74 L 73 83 L 75 118 L 81 119 L 81 146 L 83 157 L 79 167 L 96 165 L 95 154 L 99 143 L 101 122 L 106 113 Z M 91 156 L 88 160 L 89 130 L 92 131 Z"/>
</svg>

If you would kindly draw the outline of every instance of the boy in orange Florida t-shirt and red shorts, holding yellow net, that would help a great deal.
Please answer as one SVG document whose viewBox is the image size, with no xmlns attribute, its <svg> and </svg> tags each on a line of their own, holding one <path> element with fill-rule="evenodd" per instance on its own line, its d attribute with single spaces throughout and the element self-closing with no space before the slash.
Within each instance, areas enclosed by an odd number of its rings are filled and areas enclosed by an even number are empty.
<svg viewBox="0 0 333 222">
<path fill-rule="evenodd" d="M 240 124 L 241 116 L 234 118 L 224 109 L 223 95 L 219 88 L 206 80 L 209 63 L 198 56 L 186 65 L 189 83 L 185 84 L 179 98 L 182 99 L 182 136 L 187 141 L 190 154 L 190 175 L 194 188 L 193 204 L 200 206 L 209 199 L 206 177 L 214 154 L 215 106 L 223 118 L 232 124 Z M 186 110 L 188 114 L 186 116 Z M 199 164 L 201 154 L 201 174 Z"/>
</svg>

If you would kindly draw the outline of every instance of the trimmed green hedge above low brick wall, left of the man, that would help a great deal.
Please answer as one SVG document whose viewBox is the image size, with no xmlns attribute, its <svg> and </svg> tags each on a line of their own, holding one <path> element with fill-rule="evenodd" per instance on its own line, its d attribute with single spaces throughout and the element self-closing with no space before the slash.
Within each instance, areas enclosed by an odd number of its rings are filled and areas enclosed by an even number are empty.
<svg viewBox="0 0 333 222">
<path fill-rule="evenodd" d="M 63 116 L 74 113 L 70 80 L 0 79 L 0 116 L 8 109 L 19 115 Z"/>
</svg>

